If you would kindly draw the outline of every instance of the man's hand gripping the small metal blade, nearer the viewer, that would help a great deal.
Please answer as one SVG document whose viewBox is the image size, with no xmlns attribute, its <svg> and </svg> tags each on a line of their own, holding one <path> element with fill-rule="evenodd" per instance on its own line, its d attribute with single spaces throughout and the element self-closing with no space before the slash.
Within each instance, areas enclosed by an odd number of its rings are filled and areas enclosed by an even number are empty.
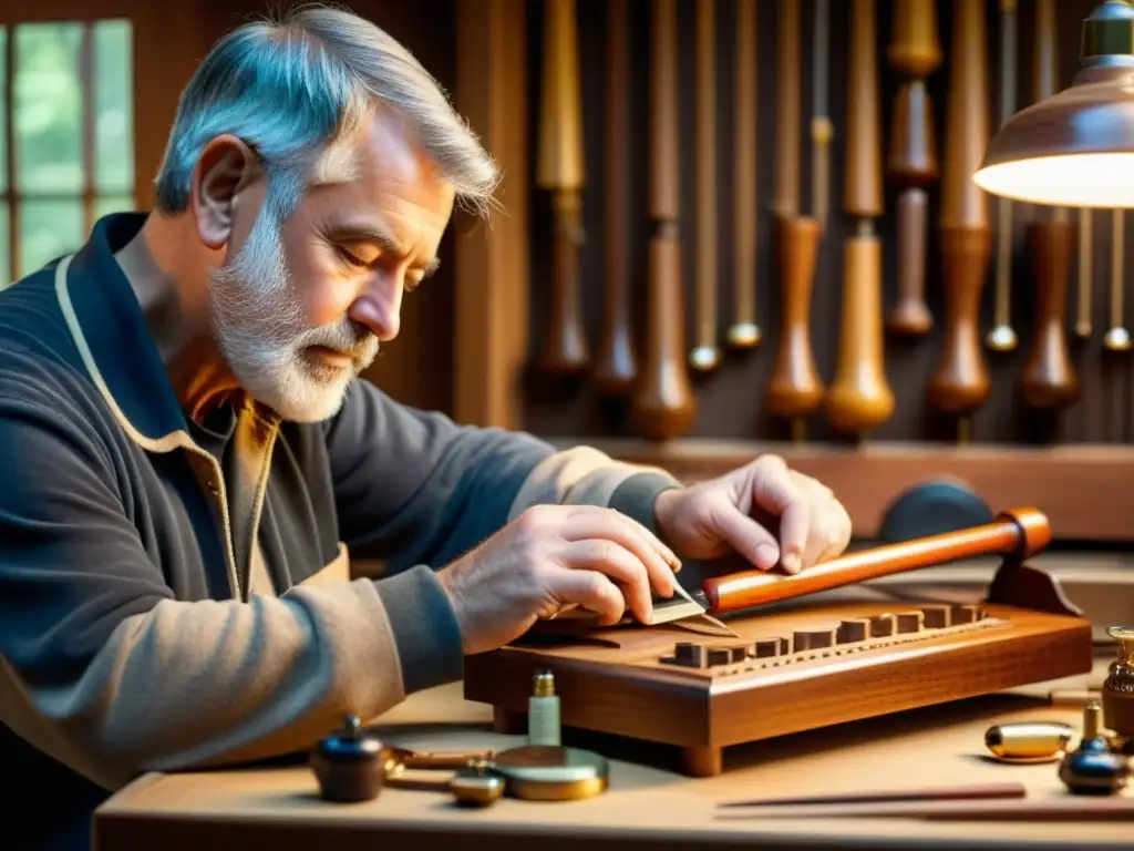
<svg viewBox="0 0 1134 851">
<path fill-rule="evenodd" d="M 651 589 L 671 597 L 679 566 L 645 526 L 612 508 L 538 505 L 438 578 L 452 600 L 465 652 L 477 654 L 570 605 L 596 613 L 603 625 L 618 623 L 628 605 L 650 623 Z"/>
</svg>

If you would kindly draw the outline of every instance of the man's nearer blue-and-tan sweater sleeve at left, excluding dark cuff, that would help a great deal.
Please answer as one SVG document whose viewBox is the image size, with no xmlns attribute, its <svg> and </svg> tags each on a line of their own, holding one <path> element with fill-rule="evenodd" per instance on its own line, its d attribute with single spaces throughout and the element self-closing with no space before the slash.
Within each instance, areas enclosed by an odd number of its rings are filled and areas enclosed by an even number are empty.
<svg viewBox="0 0 1134 851">
<path fill-rule="evenodd" d="M 66 408 L 0 396 L 0 722 L 116 789 L 306 749 L 403 699 L 380 583 L 175 599 L 111 447 Z"/>
</svg>

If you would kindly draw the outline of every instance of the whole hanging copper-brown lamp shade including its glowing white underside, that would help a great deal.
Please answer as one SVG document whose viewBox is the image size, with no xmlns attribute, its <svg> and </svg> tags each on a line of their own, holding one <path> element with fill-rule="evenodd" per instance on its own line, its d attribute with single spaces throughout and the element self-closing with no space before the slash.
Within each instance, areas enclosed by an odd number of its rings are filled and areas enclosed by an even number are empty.
<svg viewBox="0 0 1134 851">
<path fill-rule="evenodd" d="M 1083 22 L 1069 89 L 1017 112 L 973 176 L 993 195 L 1056 207 L 1134 207 L 1134 6 Z"/>
</svg>

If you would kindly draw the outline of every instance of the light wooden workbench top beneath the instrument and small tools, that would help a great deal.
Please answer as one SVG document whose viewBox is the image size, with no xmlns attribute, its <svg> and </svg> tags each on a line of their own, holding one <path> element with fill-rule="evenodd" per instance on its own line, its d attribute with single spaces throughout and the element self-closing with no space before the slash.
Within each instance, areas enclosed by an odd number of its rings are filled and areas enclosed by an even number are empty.
<svg viewBox="0 0 1134 851">
<path fill-rule="evenodd" d="M 992 761 L 984 749 L 984 731 L 992 724 L 1025 719 L 1064 721 L 1077 727 L 1081 710 L 1049 705 L 1048 689 L 1098 685 L 1110 658 L 1100 657 L 1090 676 L 739 745 L 728 751 L 722 775 L 704 780 L 676 774 L 657 751 L 660 761 L 650 765 L 624 758 L 625 742 L 589 742 L 612 758 L 611 784 L 606 794 L 585 801 L 501 800 L 486 810 L 465 810 L 443 793 L 387 789 L 371 802 L 335 804 L 319 799 L 314 775 L 306 767 L 151 774 L 100 808 L 96 848 L 225 851 L 262 842 L 272 851 L 372 851 L 391 841 L 412 849 L 493 851 L 1131 848 L 1132 823 L 818 819 L 802 808 L 775 820 L 726 820 L 716 811 L 717 802 L 741 798 L 940 784 L 1019 782 L 1033 800 L 1068 798 L 1057 764 Z M 414 696 L 379 719 L 376 730 L 388 742 L 420 749 L 503 749 L 522 743 L 519 738 L 492 733 L 490 722 L 488 707 L 465 701 L 459 686 L 447 686 Z M 1122 794 L 1134 798 L 1134 790 Z"/>
</svg>

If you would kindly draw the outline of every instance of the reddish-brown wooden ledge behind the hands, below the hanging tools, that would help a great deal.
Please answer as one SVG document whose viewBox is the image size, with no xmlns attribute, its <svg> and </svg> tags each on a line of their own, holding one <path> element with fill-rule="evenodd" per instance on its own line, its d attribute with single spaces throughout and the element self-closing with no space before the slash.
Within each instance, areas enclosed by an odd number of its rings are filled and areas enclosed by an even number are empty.
<svg viewBox="0 0 1134 851">
<path fill-rule="evenodd" d="M 1032 505 L 1051 521 L 1057 541 L 1129 541 L 1127 506 L 1134 504 L 1134 447 L 1016 446 L 953 447 L 929 444 L 866 444 L 838 447 L 687 439 L 557 439 L 586 443 L 621 461 L 663 467 L 682 481 L 712 479 L 768 453 L 782 455 L 839 497 L 855 536 L 877 538 L 886 513 L 909 488 L 959 480 L 996 511 Z"/>
</svg>

